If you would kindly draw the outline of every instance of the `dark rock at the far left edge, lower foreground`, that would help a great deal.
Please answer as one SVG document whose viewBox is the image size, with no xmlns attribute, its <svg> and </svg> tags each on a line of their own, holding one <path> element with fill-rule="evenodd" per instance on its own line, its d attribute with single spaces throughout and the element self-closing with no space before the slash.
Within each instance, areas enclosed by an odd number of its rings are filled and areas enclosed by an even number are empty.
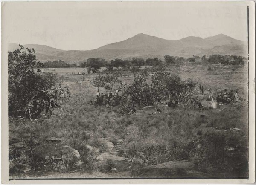
<svg viewBox="0 0 256 185">
<path fill-rule="evenodd" d="M 29 147 L 26 143 L 18 142 L 9 145 L 9 159 L 15 159 L 17 157 L 22 156 L 23 154 L 28 153 Z"/>
</svg>

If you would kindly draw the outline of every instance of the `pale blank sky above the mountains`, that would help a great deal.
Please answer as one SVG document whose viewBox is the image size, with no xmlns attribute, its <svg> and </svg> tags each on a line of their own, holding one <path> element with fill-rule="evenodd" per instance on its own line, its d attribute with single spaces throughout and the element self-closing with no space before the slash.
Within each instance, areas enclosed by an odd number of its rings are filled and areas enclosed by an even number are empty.
<svg viewBox="0 0 256 185">
<path fill-rule="evenodd" d="M 247 40 L 244 2 L 8 2 L 2 8 L 11 43 L 89 50 L 138 33 Z"/>
</svg>

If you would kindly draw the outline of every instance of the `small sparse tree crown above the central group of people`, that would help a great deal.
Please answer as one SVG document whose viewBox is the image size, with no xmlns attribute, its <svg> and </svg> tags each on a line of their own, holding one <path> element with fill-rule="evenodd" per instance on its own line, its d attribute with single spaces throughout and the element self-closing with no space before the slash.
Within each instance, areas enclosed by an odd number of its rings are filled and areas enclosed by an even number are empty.
<svg viewBox="0 0 256 185">
<path fill-rule="evenodd" d="M 94 87 L 104 88 L 106 92 L 111 91 L 115 84 L 122 85 L 122 81 L 119 80 L 119 76 L 121 74 L 117 73 L 114 75 L 109 75 L 108 73 L 105 76 L 97 76 L 97 78 L 93 79 Z"/>
</svg>

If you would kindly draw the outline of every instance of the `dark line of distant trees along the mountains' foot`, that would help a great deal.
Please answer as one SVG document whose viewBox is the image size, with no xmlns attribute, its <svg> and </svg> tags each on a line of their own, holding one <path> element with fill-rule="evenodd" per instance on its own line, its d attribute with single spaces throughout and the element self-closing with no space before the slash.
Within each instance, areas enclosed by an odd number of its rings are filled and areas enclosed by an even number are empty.
<svg viewBox="0 0 256 185">
<path fill-rule="evenodd" d="M 189 63 L 203 63 L 203 64 L 224 64 L 224 65 L 240 65 L 246 61 L 245 57 L 239 55 L 209 55 L 209 56 L 193 56 L 189 58 L 165 55 L 164 60 L 160 58 L 143 58 L 134 57 L 132 59 L 119 59 L 116 58 L 111 61 L 106 61 L 103 58 L 88 58 L 87 61 L 77 65 L 68 64 L 62 60 L 47 61 L 41 64 L 41 68 L 67 68 L 67 67 L 82 67 L 88 68 L 89 73 L 99 72 L 101 67 L 106 67 L 108 71 L 114 71 L 122 69 L 124 71 L 131 70 L 136 72 L 140 70 L 141 66 L 164 66 L 171 64 L 183 64 L 184 62 Z M 37 66 L 38 67 L 38 66 Z"/>
</svg>

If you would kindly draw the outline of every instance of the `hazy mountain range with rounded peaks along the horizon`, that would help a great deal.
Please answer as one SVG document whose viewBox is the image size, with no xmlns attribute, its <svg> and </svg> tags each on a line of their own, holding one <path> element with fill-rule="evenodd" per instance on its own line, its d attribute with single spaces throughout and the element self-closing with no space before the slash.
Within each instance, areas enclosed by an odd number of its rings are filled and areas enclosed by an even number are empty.
<svg viewBox="0 0 256 185">
<path fill-rule="evenodd" d="M 186 37 L 180 40 L 166 40 L 143 33 L 127 40 L 101 46 L 98 49 L 79 51 L 61 50 L 46 45 L 26 44 L 25 48 L 34 48 L 38 61 L 63 60 L 67 62 L 86 61 L 88 58 L 128 59 L 133 57 L 163 59 L 164 55 L 192 57 L 193 55 L 247 55 L 245 41 L 236 40 L 227 35 L 219 34 L 212 37 Z M 9 43 L 8 50 L 13 51 L 19 46 Z"/>
</svg>

